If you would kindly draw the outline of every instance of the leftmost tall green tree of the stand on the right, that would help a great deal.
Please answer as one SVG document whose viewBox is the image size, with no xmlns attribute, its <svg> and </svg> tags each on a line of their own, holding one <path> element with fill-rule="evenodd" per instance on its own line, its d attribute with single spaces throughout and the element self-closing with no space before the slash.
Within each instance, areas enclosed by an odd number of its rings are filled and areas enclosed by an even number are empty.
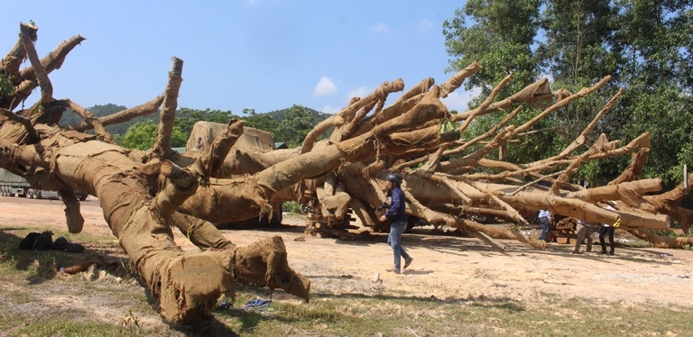
<svg viewBox="0 0 693 337">
<path fill-rule="evenodd" d="M 455 11 L 452 19 L 443 23 L 448 54 L 454 58 L 448 70 L 458 71 L 473 61 L 484 67 L 465 82 L 467 90 L 480 89 L 472 105 L 480 104 L 508 74 L 512 73 L 514 79 L 500 96 L 512 95 L 540 77 L 541 59 L 534 50 L 539 39 L 541 5 L 540 0 L 470 0 L 464 8 Z M 525 109 L 517 118 L 525 122 L 534 114 L 531 108 Z M 477 119 L 468 132 L 472 136 L 484 133 L 501 119 L 502 114 L 485 115 Z M 539 125 L 541 128 L 549 126 L 546 121 Z M 552 135 L 537 134 L 532 139 L 532 142 L 508 148 L 509 158 L 533 161 L 544 158 L 547 149 L 559 148 L 559 144 L 553 144 Z"/>
</svg>

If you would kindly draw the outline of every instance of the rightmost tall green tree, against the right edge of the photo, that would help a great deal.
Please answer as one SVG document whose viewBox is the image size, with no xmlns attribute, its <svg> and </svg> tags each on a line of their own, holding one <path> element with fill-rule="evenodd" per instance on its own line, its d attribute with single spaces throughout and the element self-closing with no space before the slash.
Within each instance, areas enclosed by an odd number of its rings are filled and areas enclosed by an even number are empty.
<svg viewBox="0 0 693 337">
<path fill-rule="evenodd" d="M 693 165 L 693 2 L 619 0 L 615 45 L 623 51 L 621 85 L 628 90 L 611 127 L 614 137 L 632 139 L 650 131 L 645 177 L 665 187 Z M 693 201 L 688 198 L 688 205 Z"/>
</svg>

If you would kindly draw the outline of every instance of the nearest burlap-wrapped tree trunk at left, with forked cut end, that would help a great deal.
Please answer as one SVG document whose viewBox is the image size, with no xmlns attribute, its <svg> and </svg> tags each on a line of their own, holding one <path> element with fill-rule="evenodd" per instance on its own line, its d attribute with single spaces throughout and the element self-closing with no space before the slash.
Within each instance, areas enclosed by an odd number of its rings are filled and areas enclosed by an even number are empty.
<svg viewBox="0 0 693 337">
<path fill-rule="evenodd" d="M 199 322 L 221 296 L 233 295 L 236 282 L 282 288 L 309 299 L 310 281 L 289 267 L 281 237 L 236 248 L 210 223 L 176 212 L 199 185 L 208 183 L 207 173 L 221 165 L 243 132 L 243 123 L 229 123 L 227 131 L 217 137 L 214 149 L 200 155 L 189 168 L 157 158 L 167 153 L 169 130 L 160 130 L 159 147 L 151 151 L 146 164 L 136 162 L 129 151 L 111 144 L 103 123 L 88 111 L 69 100 L 52 98 L 47 76 L 51 68 L 38 61 L 33 46 L 36 30 L 32 25 L 21 25 L 17 47 L 21 51 L 11 56 L 26 55 L 31 61 L 34 87 L 42 88 L 42 98 L 18 114 L 5 107 L 0 110 L 0 167 L 23 176 L 33 187 L 59 190 L 67 207 L 70 232 L 80 232 L 84 222 L 74 190 L 97 196 L 106 223 L 159 300 L 162 316 L 171 322 Z M 11 56 L 6 59 L 12 60 Z M 2 64 L 15 63 L 4 60 Z M 174 59 L 162 114 L 175 111 L 181 69 L 182 61 Z M 3 68 L 2 74 L 15 78 L 17 89 L 32 81 L 13 67 Z M 5 102 L 16 96 L 2 99 Z M 58 127 L 55 123 L 67 107 L 81 114 L 97 136 Z M 183 252 L 173 241 L 171 226 L 187 231 L 193 242 L 209 250 Z"/>
</svg>

